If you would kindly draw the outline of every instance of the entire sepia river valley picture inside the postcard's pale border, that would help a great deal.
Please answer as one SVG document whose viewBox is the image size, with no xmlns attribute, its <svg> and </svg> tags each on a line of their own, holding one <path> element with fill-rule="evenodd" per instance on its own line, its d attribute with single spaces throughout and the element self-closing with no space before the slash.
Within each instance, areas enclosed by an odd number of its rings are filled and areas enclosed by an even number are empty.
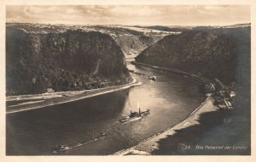
<svg viewBox="0 0 256 162">
<path fill-rule="evenodd" d="M 7 4 L 5 155 L 252 155 L 249 4 Z"/>
</svg>

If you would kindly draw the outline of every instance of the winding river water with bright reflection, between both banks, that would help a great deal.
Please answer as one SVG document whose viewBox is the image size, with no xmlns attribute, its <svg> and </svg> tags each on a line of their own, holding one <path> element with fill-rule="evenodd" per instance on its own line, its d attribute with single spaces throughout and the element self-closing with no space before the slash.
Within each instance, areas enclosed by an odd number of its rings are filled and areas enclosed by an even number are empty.
<svg viewBox="0 0 256 162">
<path fill-rule="evenodd" d="M 127 66 L 146 75 L 156 75 L 157 81 L 132 74 L 143 82 L 142 86 L 6 115 L 6 154 L 52 155 L 56 144 L 90 140 L 93 132 L 100 134 L 106 130 L 108 138 L 61 155 L 113 154 L 177 124 L 206 98 L 197 81 L 129 62 Z M 150 109 L 150 115 L 119 123 L 120 118 L 130 114 L 130 109 L 137 111 L 137 103 L 142 110 Z"/>
</svg>

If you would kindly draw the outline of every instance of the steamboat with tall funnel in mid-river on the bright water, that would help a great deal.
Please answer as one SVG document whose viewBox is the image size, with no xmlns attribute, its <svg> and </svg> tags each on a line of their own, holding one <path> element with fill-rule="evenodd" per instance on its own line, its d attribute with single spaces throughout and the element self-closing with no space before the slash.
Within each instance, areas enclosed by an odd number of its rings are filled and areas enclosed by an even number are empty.
<svg viewBox="0 0 256 162">
<path fill-rule="evenodd" d="M 150 114 L 149 109 L 147 109 L 145 111 L 141 111 L 139 104 L 137 104 L 137 105 L 138 105 L 138 112 L 132 112 L 130 109 L 130 115 L 126 116 L 125 118 L 120 119 L 119 121 L 121 123 L 124 123 L 124 122 L 131 121 L 131 120 L 139 120 L 139 119 L 142 119 L 144 116 Z"/>
</svg>

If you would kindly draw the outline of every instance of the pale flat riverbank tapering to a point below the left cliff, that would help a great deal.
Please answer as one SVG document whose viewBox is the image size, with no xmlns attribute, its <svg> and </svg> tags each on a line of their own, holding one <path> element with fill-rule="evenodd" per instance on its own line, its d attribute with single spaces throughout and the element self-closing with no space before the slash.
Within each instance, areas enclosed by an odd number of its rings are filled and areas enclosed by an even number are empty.
<svg viewBox="0 0 256 162">
<path fill-rule="evenodd" d="M 16 113 L 20 111 L 26 111 L 30 109 L 39 109 L 46 106 L 51 106 L 60 103 L 68 103 L 77 101 L 84 98 L 92 98 L 98 95 L 106 94 L 108 92 L 115 92 L 124 90 L 130 87 L 137 87 L 143 83 L 137 81 L 135 78 L 130 83 L 120 86 L 105 87 L 94 90 L 84 90 L 75 92 L 54 92 L 54 93 L 44 93 L 38 95 L 20 95 L 7 97 L 7 102 L 17 102 L 7 106 L 6 114 Z M 22 102 L 24 101 L 24 102 Z"/>
</svg>

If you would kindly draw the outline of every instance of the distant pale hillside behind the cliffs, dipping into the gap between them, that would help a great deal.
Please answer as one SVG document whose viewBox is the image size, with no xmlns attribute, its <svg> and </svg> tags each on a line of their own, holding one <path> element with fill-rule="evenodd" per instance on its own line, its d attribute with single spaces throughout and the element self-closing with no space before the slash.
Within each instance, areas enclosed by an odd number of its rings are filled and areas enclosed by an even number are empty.
<svg viewBox="0 0 256 162">
<path fill-rule="evenodd" d="M 12 25 L 11 23 L 9 25 Z M 130 57 L 141 53 L 143 49 L 164 36 L 178 34 L 177 30 L 161 31 L 159 29 L 148 29 L 143 26 L 127 25 L 47 25 L 47 24 L 15 24 L 21 29 L 32 33 L 55 33 L 67 30 L 96 31 L 107 34 L 119 45 L 125 56 Z"/>
</svg>

